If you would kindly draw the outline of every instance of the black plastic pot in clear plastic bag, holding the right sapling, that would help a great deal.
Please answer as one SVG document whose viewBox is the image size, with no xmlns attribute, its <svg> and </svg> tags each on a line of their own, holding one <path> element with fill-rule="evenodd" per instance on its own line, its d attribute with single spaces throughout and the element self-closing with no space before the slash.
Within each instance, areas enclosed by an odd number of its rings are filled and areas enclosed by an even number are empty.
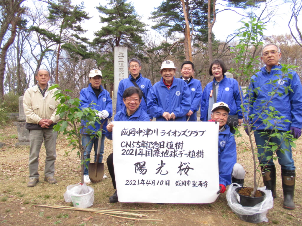
<svg viewBox="0 0 302 226">
<path fill-rule="evenodd" d="M 238 191 L 241 189 L 242 187 L 238 187 L 235 189 L 236 194 L 237 194 L 237 199 L 239 197 L 238 202 L 242 205 L 242 206 L 255 206 L 256 204 L 262 202 L 265 199 L 265 193 L 260 191 L 262 196 L 261 197 L 251 197 L 251 196 L 245 196 L 242 194 L 239 194 Z M 239 215 L 240 219 L 246 222 L 250 222 L 250 223 L 259 223 L 261 222 L 261 218 L 262 218 L 262 213 L 256 213 L 253 215 Z"/>
</svg>

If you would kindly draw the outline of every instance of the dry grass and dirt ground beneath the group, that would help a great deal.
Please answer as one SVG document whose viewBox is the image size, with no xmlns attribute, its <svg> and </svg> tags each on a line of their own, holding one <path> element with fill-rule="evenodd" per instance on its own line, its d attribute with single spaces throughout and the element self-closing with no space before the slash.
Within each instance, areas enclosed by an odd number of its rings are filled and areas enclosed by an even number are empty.
<svg viewBox="0 0 302 226">
<path fill-rule="evenodd" d="M 251 153 L 245 151 L 245 146 L 240 145 L 242 138 L 236 138 L 237 162 L 246 170 L 245 186 L 252 186 L 252 161 Z M 243 139 L 247 136 L 243 132 Z M 57 140 L 56 174 L 57 184 L 48 184 L 43 181 L 45 161 L 45 149 L 40 153 L 40 182 L 36 187 L 26 187 L 28 181 L 28 153 L 29 146 L 15 147 L 18 142 L 18 133 L 13 123 L 0 127 L 0 143 L 5 146 L 0 148 L 0 225 L 87 225 L 87 226 L 147 226 L 147 225 L 255 225 L 240 220 L 227 205 L 226 193 L 220 194 L 217 200 L 211 204 L 156 204 L 156 203 L 114 203 L 108 202 L 109 196 L 114 193 L 111 178 L 105 166 L 105 174 L 108 178 L 98 184 L 92 184 L 95 189 L 95 200 L 91 208 L 95 209 L 127 209 L 139 210 L 139 213 L 148 215 L 146 220 L 129 220 L 116 218 L 96 213 L 53 209 L 34 206 L 61 205 L 72 206 L 72 203 L 64 202 L 63 194 L 66 186 L 80 181 L 80 168 L 69 161 L 65 151 L 69 151 L 66 137 L 59 136 Z M 301 211 L 301 146 L 302 138 L 296 142 L 297 148 L 293 149 L 293 157 L 296 165 L 296 189 L 294 211 L 282 208 L 283 193 L 281 176 L 277 177 L 277 199 L 274 207 L 268 210 L 268 222 L 257 225 L 302 225 Z M 105 141 L 105 154 L 112 152 L 112 142 Z M 105 164 L 106 165 L 106 164 Z M 280 175 L 280 166 L 277 164 L 277 175 Z M 262 183 L 261 183 L 262 186 Z M 147 212 L 144 210 L 153 210 Z"/>
</svg>

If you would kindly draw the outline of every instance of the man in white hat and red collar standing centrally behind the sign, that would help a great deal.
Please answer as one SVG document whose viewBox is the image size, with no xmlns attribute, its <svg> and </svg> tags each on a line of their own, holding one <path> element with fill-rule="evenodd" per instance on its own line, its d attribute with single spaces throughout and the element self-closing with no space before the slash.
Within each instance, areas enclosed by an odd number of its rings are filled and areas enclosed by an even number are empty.
<svg viewBox="0 0 302 226">
<path fill-rule="evenodd" d="M 162 62 L 162 78 L 148 93 L 147 108 L 156 121 L 185 121 L 191 107 L 191 95 L 188 85 L 182 79 L 175 78 L 173 61 Z"/>
</svg>

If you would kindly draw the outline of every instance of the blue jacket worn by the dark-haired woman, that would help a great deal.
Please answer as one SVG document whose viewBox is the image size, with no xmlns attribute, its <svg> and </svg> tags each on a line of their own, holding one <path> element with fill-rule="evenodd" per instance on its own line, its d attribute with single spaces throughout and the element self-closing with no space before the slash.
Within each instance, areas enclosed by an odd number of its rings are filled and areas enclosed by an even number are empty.
<svg viewBox="0 0 302 226">
<path fill-rule="evenodd" d="M 200 105 L 200 121 L 206 122 L 208 120 L 210 92 L 213 89 L 214 79 L 212 82 L 208 83 L 206 87 L 204 87 L 204 92 L 202 93 Z M 233 78 L 227 78 L 225 75 L 223 75 L 223 79 L 219 83 L 217 102 L 223 101 L 227 105 L 229 105 L 229 115 L 238 114 L 238 118 L 242 118 L 242 110 L 240 107 L 241 100 L 239 92 L 242 94 L 242 90 L 241 87 L 239 88 L 238 82 Z"/>
</svg>

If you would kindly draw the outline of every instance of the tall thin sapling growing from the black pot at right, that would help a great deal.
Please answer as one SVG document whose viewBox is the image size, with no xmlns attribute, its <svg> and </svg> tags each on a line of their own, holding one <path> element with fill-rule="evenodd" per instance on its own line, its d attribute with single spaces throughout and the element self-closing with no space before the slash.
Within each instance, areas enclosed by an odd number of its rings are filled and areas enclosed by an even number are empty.
<svg viewBox="0 0 302 226">
<path fill-rule="evenodd" d="M 232 69 L 231 71 L 237 76 L 243 76 L 245 79 L 250 80 L 250 77 L 255 75 L 257 69 L 256 67 L 259 66 L 259 56 L 255 55 L 257 49 L 261 48 L 263 43 L 261 42 L 261 38 L 263 36 L 263 30 L 265 27 L 263 26 L 261 21 L 256 21 L 255 18 L 250 18 L 249 22 L 243 22 L 243 27 L 239 29 L 238 37 L 239 37 L 239 44 L 233 48 L 236 54 L 234 58 L 235 62 L 238 64 L 239 71 Z M 252 49 L 253 52 L 250 52 L 251 46 L 254 48 Z M 292 78 L 292 75 L 288 73 L 289 70 L 292 70 L 294 67 L 289 65 L 282 65 L 282 69 L 278 71 L 276 74 L 278 76 L 278 80 L 280 81 L 287 81 L 288 79 Z M 255 75 L 256 76 L 256 75 Z M 272 99 L 275 95 L 283 96 L 286 95 L 288 92 L 292 92 L 290 86 L 284 87 L 283 83 L 277 83 L 277 80 L 270 80 L 269 84 L 271 86 L 271 90 L 263 91 L 260 87 L 253 87 L 249 86 L 248 89 L 243 89 L 244 96 L 241 96 L 241 108 L 243 112 L 243 123 L 246 128 L 246 132 L 249 136 L 249 140 L 246 141 L 243 139 L 243 143 L 245 143 L 247 149 L 252 152 L 252 159 L 253 159 L 253 182 L 254 187 L 251 193 L 251 196 L 255 196 L 256 190 L 259 186 L 259 181 L 262 176 L 262 171 L 268 162 L 273 159 L 277 160 L 276 151 L 280 150 L 282 153 L 285 151 L 289 151 L 288 149 L 284 149 L 280 147 L 280 144 L 272 142 L 272 138 L 276 137 L 282 140 L 287 147 L 289 145 L 295 147 L 293 135 L 290 134 L 289 131 L 283 131 L 280 124 L 290 122 L 284 116 L 280 114 L 280 112 L 271 105 Z M 255 95 L 259 92 L 268 92 L 268 101 L 262 102 L 262 106 L 257 106 Z M 251 108 L 259 108 L 257 114 L 250 114 Z M 258 120 L 261 121 L 256 123 Z M 267 135 L 268 140 L 264 146 L 257 146 L 253 145 L 252 141 L 252 134 L 254 130 L 257 130 L 259 127 L 264 127 L 265 130 L 262 130 L 260 134 Z M 239 130 L 236 130 L 236 135 L 238 137 L 242 137 Z M 258 149 L 263 148 L 264 153 L 259 154 Z M 266 157 L 265 161 L 262 161 L 262 158 L 265 155 L 265 152 L 270 152 L 271 155 Z M 257 159 L 259 162 L 257 161 Z M 259 176 L 257 172 L 260 173 Z"/>
</svg>

